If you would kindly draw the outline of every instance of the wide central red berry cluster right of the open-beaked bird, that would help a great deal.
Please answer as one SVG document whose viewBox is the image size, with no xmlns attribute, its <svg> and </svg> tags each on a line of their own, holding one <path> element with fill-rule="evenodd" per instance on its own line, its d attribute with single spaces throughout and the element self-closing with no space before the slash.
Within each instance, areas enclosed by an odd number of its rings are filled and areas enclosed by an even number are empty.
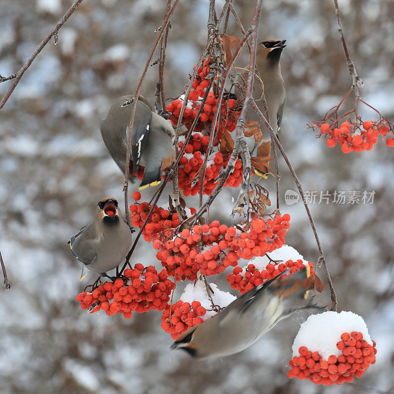
<svg viewBox="0 0 394 394">
<path fill-rule="evenodd" d="M 245 224 L 242 230 L 220 225 L 215 220 L 210 225 L 194 226 L 183 230 L 175 238 L 162 243 L 153 242 L 158 249 L 156 257 L 176 281 L 195 280 L 197 272 L 216 275 L 228 266 L 235 266 L 239 259 L 250 260 L 280 248 L 285 243 L 289 215 L 276 215 L 274 220 L 259 217 Z"/>
</svg>

